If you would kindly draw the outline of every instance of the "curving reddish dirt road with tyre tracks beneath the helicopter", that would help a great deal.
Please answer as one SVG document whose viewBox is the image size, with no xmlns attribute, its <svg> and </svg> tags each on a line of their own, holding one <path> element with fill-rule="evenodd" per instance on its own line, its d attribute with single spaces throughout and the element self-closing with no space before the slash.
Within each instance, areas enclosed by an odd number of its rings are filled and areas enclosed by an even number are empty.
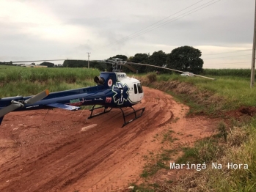
<svg viewBox="0 0 256 192">
<path fill-rule="evenodd" d="M 119 190 L 139 179 L 142 155 L 161 147 L 153 136 L 165 128 L 177 133 L 174 147 L 211 135 L 213 120 L 186 119 L 188 107 L 144 91 L 135 108 L 145 106 L 145 113 L 124 128 L 118 108 L 92 119 L 87 110 L 7 114 L 0 126 L 0 191 Z"/>
</svg>

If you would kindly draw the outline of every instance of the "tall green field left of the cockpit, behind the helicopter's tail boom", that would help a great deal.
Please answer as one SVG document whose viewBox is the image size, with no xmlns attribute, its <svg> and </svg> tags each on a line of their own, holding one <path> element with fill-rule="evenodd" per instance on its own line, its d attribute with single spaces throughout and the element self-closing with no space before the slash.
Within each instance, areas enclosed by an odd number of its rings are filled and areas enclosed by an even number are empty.
<svg viewBox="0 0 256 192">
<path fill-rule="evenodd" d="M 0 65 L 0 97 L 36 95 L 95 85 L 99 70 L 87 68 L 31 68 Z"/>
</svg>

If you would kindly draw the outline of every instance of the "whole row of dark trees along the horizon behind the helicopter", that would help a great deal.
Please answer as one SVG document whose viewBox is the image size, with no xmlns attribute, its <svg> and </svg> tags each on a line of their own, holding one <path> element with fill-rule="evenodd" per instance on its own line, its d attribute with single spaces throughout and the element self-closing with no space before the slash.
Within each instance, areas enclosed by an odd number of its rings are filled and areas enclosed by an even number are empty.
<svg viewBox="0 0 256 192">
<path fill-rule="evenodd" d="M 158 67 L 167 67 L 174 70 L 189 71 L 191 73 L 201 73 L 203 60 L 200 58 L 202 53 L 199 49 L 183 46 L 175 48 L 171 53 L 164 53 L 164 51 L 155 51 L 152 55 L 150 53 L 136 53 L 134 56 L 129 58 L 125 55 L 116 55 L 111 56 L 109 59 L 119 58 L 123 61 L 142 63 L 142 64 L 151 64 Z M 0 62 L 0 64 L 14 65 L 12 62 Z M 34 63 L 33 63 L 34 64 Z M 45 65 L 48 67 L 88 67 L 87 60 L 76 60 L 76 59 L 67 59 L 63 62 L 62 66 L 54 65 L 51 62 L 43 62 L 40 65 Z M 133 65 L 133 64 L 132 64 Z M 100 61 L 89 61 L 89 67 L 97 68 L 100 71 L 111 71 L 111 64 L 106 64 Z M 142 65 L 133 65 L 138 73 L 148 73 L 152 71 L 167 72 L 167 70 L 157 69 L 155 67 L 145 67 Z M 122 67 L 122 71 L 125 73 L 131 72 L 126 67 Z"/>
</svg>

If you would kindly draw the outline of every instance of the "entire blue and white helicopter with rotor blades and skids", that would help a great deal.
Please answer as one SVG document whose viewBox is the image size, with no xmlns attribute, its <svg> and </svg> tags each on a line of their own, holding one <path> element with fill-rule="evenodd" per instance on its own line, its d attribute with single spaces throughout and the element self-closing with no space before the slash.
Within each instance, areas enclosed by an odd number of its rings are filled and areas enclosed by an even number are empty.
<svg viewBox="0 0 256 192">
<path fill-rule="evenodd" d="M 29 61 L 31 62 L 31 61 Z M 124 123 L 122 127 L 128 123 L 142 117 L 145 107 L 134 109 L 134 105 L 141 103 L 144 92 L 140 81 L 133 77 L 128 77 L 126 73 L 122 73 L 121 67 L 128 67 L 136 72 L 131 64 L 139 64 L 125 62 L 122 59 L 114 58 L 104 61 L 106 64 L 112 64 L 111 72 L 100 72 L 99 76 L 95 76 L 94 81 L 96 86 L 88 86 L 80 89 L 70 89 L 62 92 L 51 92 L 48 89 L 34 96 L 16 96 L 0 98 L 0 125 L 4 119 L 4 115 L 12 111 L 26 111 L 43 108 L 63 108 L 74 111 L 81 106 L 92 106 L 91 113 L 88 119 L 97 117 L 101 114 L 106 114 L 112 108 L 120 108 Z M 139 64 L 145 66 L 156 67 L 150 64 Z M 172 70 L 166 67 L 167 70 Z M 183 73 L 183 71 L 174 70 Z M 197 75 L 208 78 L 205 76 Z M 213 78 L 210 78 L 213 79 Z M 214 79 L 213 79 L 214 80 Z M 122 108 L 132 108 L 132 112 L 125 114 Z M 98 114 L 93 114 L 98 108 L 103 108 L 103 111 Z M 133 119 L 126 121 L 125 117 L 134 115 Z"/>
</svg>

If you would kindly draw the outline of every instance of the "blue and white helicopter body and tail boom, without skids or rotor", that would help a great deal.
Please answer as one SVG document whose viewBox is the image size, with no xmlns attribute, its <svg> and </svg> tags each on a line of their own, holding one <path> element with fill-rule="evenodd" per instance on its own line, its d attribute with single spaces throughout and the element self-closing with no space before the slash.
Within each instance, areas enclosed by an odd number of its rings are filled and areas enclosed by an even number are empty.
<svg viewBox="0 0 256 192">
<path fill-rule="evenodd" d="M 95 77 L 97 78 L 97 77 Z M 136 78 L 130 78 L 125 73 L 101 72 L 98 77 L 102 81 L 96 86 L 80 89 L 70 89 L 62 92 L 52 92 L 43 100 L 26 105 L 15 111 L 35 110 L 46 107 L 78 109 L 79 106 L 100 105 L 111 108 L 134 106 L 143 98 L 142 86 Z M 97 83 L 95 81 L 95 83 Z M 5 97 L 0 99 L 0 109 L 11 104 L 12 100 L 21 102 L 29 97 Z"/>
</svg>

